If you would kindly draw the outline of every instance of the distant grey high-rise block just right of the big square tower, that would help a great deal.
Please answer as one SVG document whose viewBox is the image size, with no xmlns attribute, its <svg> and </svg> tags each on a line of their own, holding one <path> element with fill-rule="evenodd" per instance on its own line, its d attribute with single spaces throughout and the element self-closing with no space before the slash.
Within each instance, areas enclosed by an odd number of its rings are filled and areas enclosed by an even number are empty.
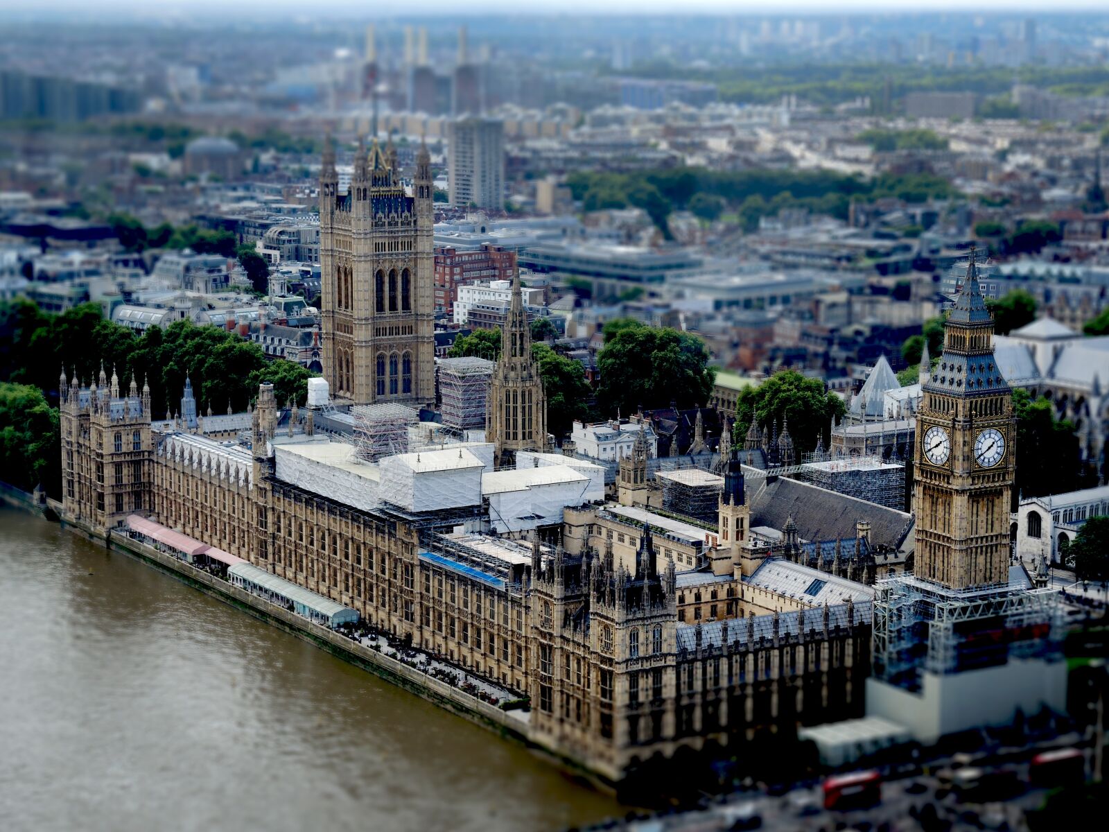
<svg viewBox="0 0 1109 832">
<path fill-rule="evenodd" d="M 500 211 L 505 206 L 505 125 L 496 119 L 459 119 L 447 129 L 450 204 Z"/>
</svg>

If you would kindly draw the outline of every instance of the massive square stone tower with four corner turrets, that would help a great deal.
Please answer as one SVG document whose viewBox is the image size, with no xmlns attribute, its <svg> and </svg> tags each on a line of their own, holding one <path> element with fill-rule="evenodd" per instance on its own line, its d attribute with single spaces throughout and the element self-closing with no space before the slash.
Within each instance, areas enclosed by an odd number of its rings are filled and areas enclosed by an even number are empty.
<svg viewBox="0 0 1109 832">
<path fill-rule="evenodd" d="M 319 177 L 324 376 L 340 402 L 435 399 L 431 170 L 416 158 L 411 195 L 395 159 L 359 140 L 347 192 L 335 151 Z"/>
</svg>

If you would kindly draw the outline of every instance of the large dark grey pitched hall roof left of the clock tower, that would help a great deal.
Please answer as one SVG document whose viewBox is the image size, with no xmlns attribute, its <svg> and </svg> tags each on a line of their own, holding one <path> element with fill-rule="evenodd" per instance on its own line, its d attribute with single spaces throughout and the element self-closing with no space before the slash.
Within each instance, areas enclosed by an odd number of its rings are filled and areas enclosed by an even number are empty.
<svg viewBox="0 0 1109 832">
<path fill-rule="evenodd" d="M 767 477 L 747 498 L 751 525 L 781 529 L 793 517 L 803 540 L 854 539 L 855 521 L 871 524 L 874 545 L 899 548 L 912 515 L 787 477 Z"/>
</svg>

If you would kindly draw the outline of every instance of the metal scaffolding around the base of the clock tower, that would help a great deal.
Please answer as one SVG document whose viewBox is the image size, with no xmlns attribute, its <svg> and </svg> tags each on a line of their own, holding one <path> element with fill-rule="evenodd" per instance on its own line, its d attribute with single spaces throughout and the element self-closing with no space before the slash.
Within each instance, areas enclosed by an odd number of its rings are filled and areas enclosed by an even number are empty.
<svg viewBox="0 0 1109 832">
<path fill-rule="evenodd" d="M 1062 617 L 1055 589 L 955 590 L 910 575 L 876 588 L 874 676 L 889 684 L 918 691 L 923 672 L 960 673 L 1059 652 Z"/>
</svg>

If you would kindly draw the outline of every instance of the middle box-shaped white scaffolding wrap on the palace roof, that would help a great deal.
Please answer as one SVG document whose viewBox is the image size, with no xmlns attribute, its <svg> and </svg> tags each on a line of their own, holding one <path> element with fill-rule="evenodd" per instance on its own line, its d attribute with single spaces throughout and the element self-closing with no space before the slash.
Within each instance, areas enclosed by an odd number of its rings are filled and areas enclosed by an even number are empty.
<svg viewBox="0 0 1109 832">
<path fill-rule="evenodd" d="M 381 499 L 407 511 L 439 511 L 481 503 L 485 463 L 461 446 L 381 459 Z"/>
</svg>

